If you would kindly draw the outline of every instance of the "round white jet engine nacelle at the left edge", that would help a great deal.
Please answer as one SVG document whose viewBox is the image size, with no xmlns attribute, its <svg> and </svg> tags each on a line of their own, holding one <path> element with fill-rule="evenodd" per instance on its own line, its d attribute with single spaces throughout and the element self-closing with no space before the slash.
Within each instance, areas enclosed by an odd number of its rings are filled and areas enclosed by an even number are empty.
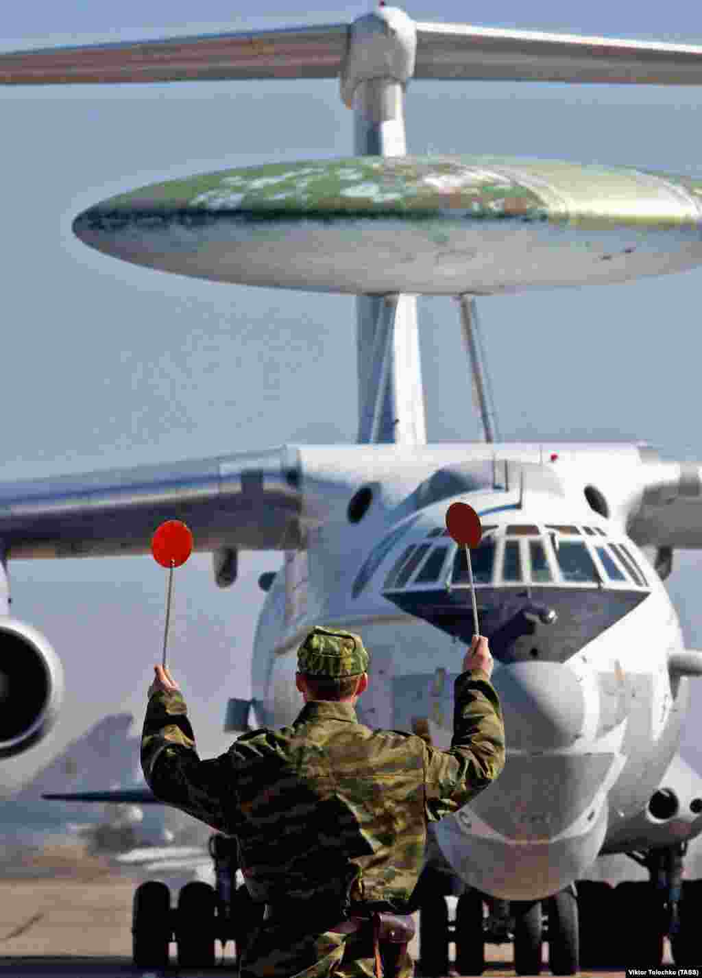
<svg viewBox="0 0 702 978">
<path fill-rule="evenodd" d="M 22 754 L 52 729 L 64 696 L 64 669 L 41 632 L 0 618 L 0 758 Z"/>
</svg>

